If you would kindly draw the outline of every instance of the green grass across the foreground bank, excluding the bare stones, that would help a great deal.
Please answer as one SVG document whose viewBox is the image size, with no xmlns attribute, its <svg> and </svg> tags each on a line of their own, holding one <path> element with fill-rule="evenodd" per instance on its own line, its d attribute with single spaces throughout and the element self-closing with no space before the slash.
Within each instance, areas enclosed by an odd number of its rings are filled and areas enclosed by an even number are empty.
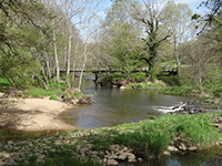
<svg viewBox="0 0 222 166">
<path fill-rule="evenodd" d="M 219 112 L 221 114 L 221 112 Z M 205 113 L 198 115 L 162 115 L 155 117 L 155 121 L 141 121 L 138 123 L 125 123 L 114 127 L 93 128 L 88 131 L 65 132 L 54 136 L 51 142 L 47 143 L 48 153 L 46 154 L 44 163 L 37 163 L 38 157 L 32 152 L 31 158 L 26 158 L 28 163 L 21 162 L 19 166 L 93 166 L 101 164 L 90 156 L 78 158 L 78 151 L 91 145 L 90 151 L 99 152 L 98 156 L 103 158 L 105 152 L 111 152 L 110 145 L 120 145 L 132 148 L 133 154 L 140 157 L 160 156 L 171 143 L 179 144 L 178 137 L 183 139 L 183 143 L 195 145 L 199 148 L 208 148 L 214 145 L 221 137 L 218 128 L 212 126 L 212 121 L 218 117 L 218 113 Z M 70 137 L 69 134 L 78 134 L 83 132 L 78 137 Z M 63 141 L 71 141 L 72 144 L 62 143 L 56 145 L 54 142 L 63 135 Z M 68 136 L 68 137 L 65 137 Z M 42 142 L 42 144 L 46 144 Z M 77 148 L 77 146 L 80 146 Z M 57 149 L 51 152 L 50 149 Z M 32 149 L 32 148 L 31 148 Z M 30 154 L 31 152 L 29 152 Z M 80 156 L 79 156 L 80 157 Z"/>
</svg>

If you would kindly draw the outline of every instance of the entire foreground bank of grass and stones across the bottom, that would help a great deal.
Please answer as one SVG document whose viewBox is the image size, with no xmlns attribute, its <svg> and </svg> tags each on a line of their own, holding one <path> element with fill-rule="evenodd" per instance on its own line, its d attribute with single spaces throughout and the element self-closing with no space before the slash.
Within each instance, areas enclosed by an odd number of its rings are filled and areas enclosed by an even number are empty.
<svg viewBox="0 0 222 166">
<path fill-rule="evenodd" d="M 163 115 L 152 121 L 67 132 L 1 146 L 1 164 L 19 166 L 118 165 L 200 151 L 221 144 L 221 112 Z M 219 126 L 219 127 L 215 127 Z"/>
</svg>

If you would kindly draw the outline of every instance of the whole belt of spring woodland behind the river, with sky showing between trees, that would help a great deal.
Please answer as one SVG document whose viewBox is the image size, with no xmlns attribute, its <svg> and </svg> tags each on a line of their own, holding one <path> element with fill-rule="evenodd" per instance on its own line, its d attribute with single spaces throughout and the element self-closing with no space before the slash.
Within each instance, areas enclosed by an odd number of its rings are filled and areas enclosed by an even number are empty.
<svg viewBox="0 0 222 166">
<path fill-rule="evenodd" d="M 148 68 L 154 81 L 164 75 L 161 68 L 173 66 L 176 75 L 168 80 L 221 97 L 221 1 L 196 8 L 200 13 L 173 0 L 1 1 L 0 77 L 13 90 L 62 84 L 79 92 L 89 69 L 130 80 Z"/>
</svg>

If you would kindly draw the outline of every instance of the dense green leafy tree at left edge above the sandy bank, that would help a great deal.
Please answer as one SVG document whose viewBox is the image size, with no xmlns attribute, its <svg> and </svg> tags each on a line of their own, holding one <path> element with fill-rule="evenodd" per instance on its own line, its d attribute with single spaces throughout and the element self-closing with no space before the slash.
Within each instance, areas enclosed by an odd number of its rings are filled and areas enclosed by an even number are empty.
<svg viewBox="0 0 222 166">
<path fill-rule="evenodd" d="M 28 81 L 30 75 L 39 71 L 38 62 L 30 52 L 36 46 L 30 42 L 29 35 L 34 37 L 34 33 L 28 32 L 30 29 L 44 31 L 39 24 L 41 17 L 49 18 L 49 13 L 37 1 L 1 1 L 0 70 L 14 87 L 20 85 L 20 80 Z"/>
</svg>

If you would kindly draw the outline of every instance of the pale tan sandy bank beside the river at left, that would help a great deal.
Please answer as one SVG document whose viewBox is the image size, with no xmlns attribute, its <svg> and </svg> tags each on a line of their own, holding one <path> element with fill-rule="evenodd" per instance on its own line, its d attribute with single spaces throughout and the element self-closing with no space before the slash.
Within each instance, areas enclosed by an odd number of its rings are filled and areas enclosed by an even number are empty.
<svg viewBox="0 0 222 166">
<path fill-rule="evenodd" d="M 10 100 L 11 101 L 11 100 Z M 0 128 L 16 131 L 67 129 L 78 127 L 64 123 L 59 116 L 73 106 L 59 101 L 44 98 L 24 98 L 9 102 L 0 107 Z"/>
</svg>

